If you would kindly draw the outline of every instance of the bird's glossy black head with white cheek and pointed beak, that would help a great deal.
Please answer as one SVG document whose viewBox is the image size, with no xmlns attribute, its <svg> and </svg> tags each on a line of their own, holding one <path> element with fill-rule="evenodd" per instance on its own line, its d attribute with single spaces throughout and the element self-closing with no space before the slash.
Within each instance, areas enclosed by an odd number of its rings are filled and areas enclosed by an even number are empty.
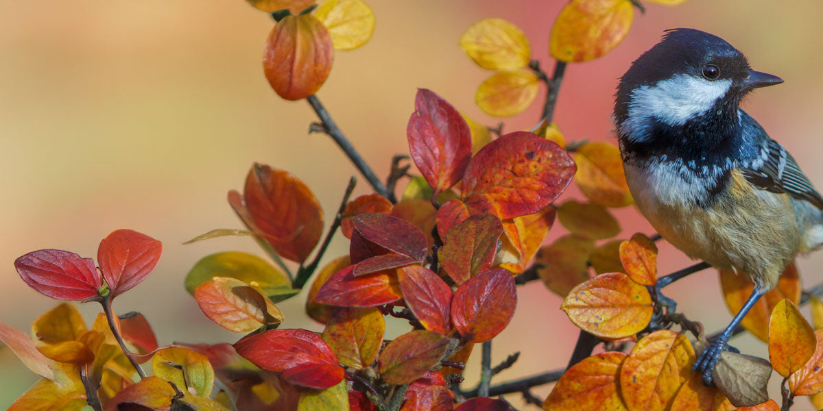
<svg viewBox="0 0 823 411">
<path fill-rule="evenodd" d="M 736 119 L 746 93 L 781 82 L 751 70 L 746 57 L 716 35 L 667 30 L 621 77 L 614 119 L 621 137 L 642 141 L 652 123 L 679 127 Z"/>
</svg>

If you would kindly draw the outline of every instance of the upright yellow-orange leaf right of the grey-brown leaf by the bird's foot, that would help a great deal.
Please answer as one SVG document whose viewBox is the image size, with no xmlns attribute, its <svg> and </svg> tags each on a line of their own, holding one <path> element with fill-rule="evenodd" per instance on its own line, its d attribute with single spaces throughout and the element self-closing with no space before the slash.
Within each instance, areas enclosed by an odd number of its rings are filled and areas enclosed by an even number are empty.
<svg viewBox="0 0 823 411">
<path fill-rule="evenodd" d="M 769 361 L 781 376 L 803 367 L 815 353 L 817 339 L 809 323 L 786 298 L 772 310 L 769 321 Z"/>
</svg>

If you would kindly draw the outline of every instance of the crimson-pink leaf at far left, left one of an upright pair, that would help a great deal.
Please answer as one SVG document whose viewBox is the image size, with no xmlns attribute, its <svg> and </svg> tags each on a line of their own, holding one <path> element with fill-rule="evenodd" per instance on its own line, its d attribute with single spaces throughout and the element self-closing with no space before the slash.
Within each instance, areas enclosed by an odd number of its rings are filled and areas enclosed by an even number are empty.
<svg viewBox="0 0 823 411">
<path fill-rule="evenodd" d="M 14 268 L 38 293 L 59 300 L 98 297 L 103 278 L 91 258 L 63 250 L 37 250 L 18 257 Z"/>
</svg>

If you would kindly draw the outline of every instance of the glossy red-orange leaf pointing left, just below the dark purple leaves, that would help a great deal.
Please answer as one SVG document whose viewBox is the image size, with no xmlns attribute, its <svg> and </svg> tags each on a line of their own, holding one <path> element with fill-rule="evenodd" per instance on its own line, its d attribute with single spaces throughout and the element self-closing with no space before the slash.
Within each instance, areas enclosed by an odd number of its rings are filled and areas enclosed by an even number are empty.
<svg viewBox="0 0 823 411">
<path fill-rule="evenodd" d="M 315 301 L 332 306 L 374 307 L 398 301 L 397 277 L 388 272 L 355 277 L 354 266 L 337 271 L 323 284 Z"/>
</svg>

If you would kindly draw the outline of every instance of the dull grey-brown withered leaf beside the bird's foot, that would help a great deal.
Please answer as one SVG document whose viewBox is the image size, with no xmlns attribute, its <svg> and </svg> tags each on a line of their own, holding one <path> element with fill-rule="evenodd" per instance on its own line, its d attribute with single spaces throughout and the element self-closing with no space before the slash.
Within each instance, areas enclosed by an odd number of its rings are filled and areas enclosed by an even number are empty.
<svg viewBox="0 0 823 411">
<path fill-rule="evenodd" d="M 712 381 L 736 407 L 751 406 L 769 399 L 767 384 L 771 365 L 763 358 L 723 351 L 712 371 Z"/>
</svg>

